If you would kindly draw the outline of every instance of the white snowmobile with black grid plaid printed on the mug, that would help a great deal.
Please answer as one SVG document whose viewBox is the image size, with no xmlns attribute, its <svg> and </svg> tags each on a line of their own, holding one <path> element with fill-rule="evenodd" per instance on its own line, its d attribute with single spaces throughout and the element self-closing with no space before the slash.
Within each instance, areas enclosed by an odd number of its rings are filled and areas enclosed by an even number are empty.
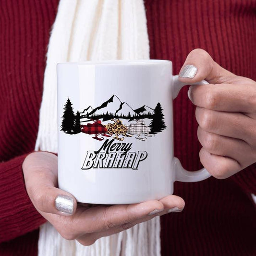
<svg viewBox="0 0 256 256">
<path fill-rule="evenodd" d="M 149 134 L 150 133 L 150 128 L 148 126 L 145 125 L 145 122 L 142 119 L 139 120 L 135 120 L 137 123 L 130 123 L 125 125 L 127 130 L 128 130 L 128 134 L 132 134 L 132 135 L 137 135 L 135 138 L 145 141 L 146 137 L 143 137 L 143 135 L 147 136 L 147 137 L 154 137 L 155 134 Z"/>
</svg>

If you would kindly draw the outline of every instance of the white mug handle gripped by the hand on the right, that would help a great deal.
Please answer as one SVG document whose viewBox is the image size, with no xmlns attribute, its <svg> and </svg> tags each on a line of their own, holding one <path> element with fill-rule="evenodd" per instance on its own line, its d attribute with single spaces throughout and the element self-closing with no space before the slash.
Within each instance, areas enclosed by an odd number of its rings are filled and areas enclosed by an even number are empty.
<svg viewBox="0 0 256 256">
<path fill-rule="evenodd" d="M 208 85 L 209 83 L 205 80 L 200 82 L 192 83 L 191 85 Z M 172 86 L 172 99 L 178 96 L 180 89 L 188 83 L 183 83 L 179 81 L 179 75 L 173 76 L 173 86 Z M 187 171 L 182 167 L 182 164 L 178 158 L 174 157 L 173 169 L 175 171 L 174 181 L 179 182 L 199 182 L 205 180 L 211 176 L 211 174 L 205 169 L 199 171 Z"/>
</svg>

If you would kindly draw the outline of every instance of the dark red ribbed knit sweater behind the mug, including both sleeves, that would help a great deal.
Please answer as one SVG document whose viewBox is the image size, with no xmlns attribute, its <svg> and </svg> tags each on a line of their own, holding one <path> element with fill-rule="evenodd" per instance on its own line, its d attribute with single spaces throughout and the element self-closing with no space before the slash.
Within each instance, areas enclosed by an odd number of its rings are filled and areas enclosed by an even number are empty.
<svg viewBox="0 0 256 256">
<path fill-rule="evenodd" d="M 36 256 L 45 220 L 30 202 L 21 164 L 34 149 L 49 31 L 59 0 L 0 1 L 0 256 Z M 150 57 L 173 61 L 207 50 L 224 68 L 256 80 L 256 0 L 146 0 Z M 174 101 L 175 156 L 201 168 L 195 107 Z M 255 256 L 256 166 L 226 180 L 175 183 L 182 213 L 161 218 L 162 255 Z"/>
</svg>

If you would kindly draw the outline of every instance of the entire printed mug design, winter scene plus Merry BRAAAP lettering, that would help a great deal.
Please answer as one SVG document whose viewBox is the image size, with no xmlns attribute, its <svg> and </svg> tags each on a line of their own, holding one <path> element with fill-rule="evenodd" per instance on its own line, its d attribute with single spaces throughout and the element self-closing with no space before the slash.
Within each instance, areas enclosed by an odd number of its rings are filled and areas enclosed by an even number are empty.
<svg viewBox="0 0 256 256">
<path fill-rule="evenodd" d="M 88 150 L 82 170 L 91 168 L 125 168 L 138 170 L 141 161 L 148 154 L 144 150 L 134 152 L 133 143 L 125 138 L 146 141 L 155 137 L 166 128 L 163 109 L 158 102 L 156 107 L 143 105 L 133 109 L 128 103 L 122 102 L 112 95 L 100 106 L 86 107 L 82 112 L 73 112 L 71 99 L 68 98 L 62 115 L 61 131 L 66 134 L 88 134 L 92 139 L 103 141 L 100 148 Z M 110 139 L 110 137 L 112 137 Z M 123 141 L 125 143 L 120 143 Z M 127 141 L 127 142 L 126 142 Z"/>
</svg>

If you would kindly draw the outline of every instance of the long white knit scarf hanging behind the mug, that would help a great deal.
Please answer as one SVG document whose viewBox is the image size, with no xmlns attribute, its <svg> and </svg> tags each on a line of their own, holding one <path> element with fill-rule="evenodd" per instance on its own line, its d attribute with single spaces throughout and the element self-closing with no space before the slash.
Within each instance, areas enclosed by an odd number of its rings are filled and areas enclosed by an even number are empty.
<svg viewBox="0 0 256 256">
<path fill-rule="evenodd" d="M 143 0 L 61 0 L 44 75 L 36 150 L 58 152 L 56 64 L 65 61 L 149 59 Z M 160 256 L 159 217 L 103 237 L 91 246 L 68 241 L 47 222 L 39 256 Z"/>
</svg>

